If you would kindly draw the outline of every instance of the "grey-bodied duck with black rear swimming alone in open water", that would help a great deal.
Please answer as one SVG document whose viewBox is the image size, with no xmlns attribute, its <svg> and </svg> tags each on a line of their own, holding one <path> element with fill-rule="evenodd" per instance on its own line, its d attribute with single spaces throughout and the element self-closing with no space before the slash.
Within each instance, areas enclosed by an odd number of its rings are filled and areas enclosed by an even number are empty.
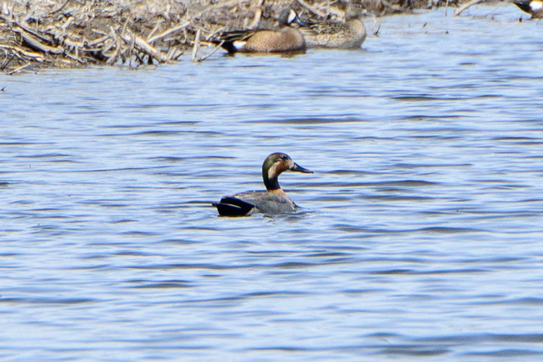
<svg viewBox="0 0 543 362">
<path fill-rule="evenodd" d="M 283 214 L 298 208 L 279 186 L 277 177 L 283 171 L 313 173 L 294 163 L 285 153 L 272 153 L 262 164 L 262 178 L 266 191 L 248 191 L 226 196 L 218 203 L 212 203 L 220 216 L 244 216 L 260 211 L 263 214 Z"/>
</svg>

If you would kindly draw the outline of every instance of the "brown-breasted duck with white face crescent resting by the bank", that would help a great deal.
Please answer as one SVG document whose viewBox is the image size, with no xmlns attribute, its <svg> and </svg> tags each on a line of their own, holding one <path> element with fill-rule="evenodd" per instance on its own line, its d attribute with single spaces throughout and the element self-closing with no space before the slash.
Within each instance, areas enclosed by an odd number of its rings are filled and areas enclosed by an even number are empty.
<svg viewBox="0 0 543 362">
<path fill-rule="evenodd" d="M 291 27 L 294 22 L 300 26 L 306 25 L 300 20 L 298 13 L 292 9 L 284 9 L 277 22 L 279 23 L 277 30 L 226 31 L 212 43 L 220 44 L 221 47 L 228 50 L 228 53 L 237 53 L 238 51 L 246 53 L 305 51 L 304 36 L 298 29 Z"/>
</svg>

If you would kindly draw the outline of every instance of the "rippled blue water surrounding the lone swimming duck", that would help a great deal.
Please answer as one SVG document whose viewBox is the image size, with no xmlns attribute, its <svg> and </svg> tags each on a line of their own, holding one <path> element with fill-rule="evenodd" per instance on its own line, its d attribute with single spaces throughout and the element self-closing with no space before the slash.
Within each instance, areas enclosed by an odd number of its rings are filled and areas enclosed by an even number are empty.
<svg viewBox="0 0 543 362">
<path fill-rule="evenodd" d="M 541 21 L 493 9 L 2 76 L 0 358 L 540 361 Z M 217 217 L 275 151 L 304 209 Z"/>
</svg>

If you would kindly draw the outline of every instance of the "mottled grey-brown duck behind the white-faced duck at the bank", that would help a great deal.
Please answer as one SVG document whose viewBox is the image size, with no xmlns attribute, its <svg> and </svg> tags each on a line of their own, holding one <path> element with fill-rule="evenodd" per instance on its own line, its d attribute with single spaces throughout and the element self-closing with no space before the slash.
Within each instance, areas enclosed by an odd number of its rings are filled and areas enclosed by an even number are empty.
<svg viewBox="0 0 543 362">
<path fill-rule="evenodd" d="M 366 38 L 366 27 L 360 20 L 363 15 L 361 5 L 353 0 L 345 8 L 345 21 L 327 20 L 300 26 L 307 48 L 357 49 Z"/>
</svg>

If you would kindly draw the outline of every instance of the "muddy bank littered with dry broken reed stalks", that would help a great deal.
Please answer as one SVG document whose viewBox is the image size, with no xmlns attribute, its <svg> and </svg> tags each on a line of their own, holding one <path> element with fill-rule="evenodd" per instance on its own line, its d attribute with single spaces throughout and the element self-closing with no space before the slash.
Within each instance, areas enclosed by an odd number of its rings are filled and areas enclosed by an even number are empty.
<svg viewBox="0 0 543 362">
<path fill-rule="evenodd" d="M 380 16 L 445 5 L 443 0 L 355 0 L 368 25 Z M 449 6 L 457 5 L 450 1 Z M 286 7 L 306 20 L 343 17 L 332 0 L 35 0 L 6 1 L 0 9 L 0 69 L 156 64 L 179 60 L 197 34 L 270 28 Z M 196 56 L 196 60 L 199 60 Z"/>
</svg>

